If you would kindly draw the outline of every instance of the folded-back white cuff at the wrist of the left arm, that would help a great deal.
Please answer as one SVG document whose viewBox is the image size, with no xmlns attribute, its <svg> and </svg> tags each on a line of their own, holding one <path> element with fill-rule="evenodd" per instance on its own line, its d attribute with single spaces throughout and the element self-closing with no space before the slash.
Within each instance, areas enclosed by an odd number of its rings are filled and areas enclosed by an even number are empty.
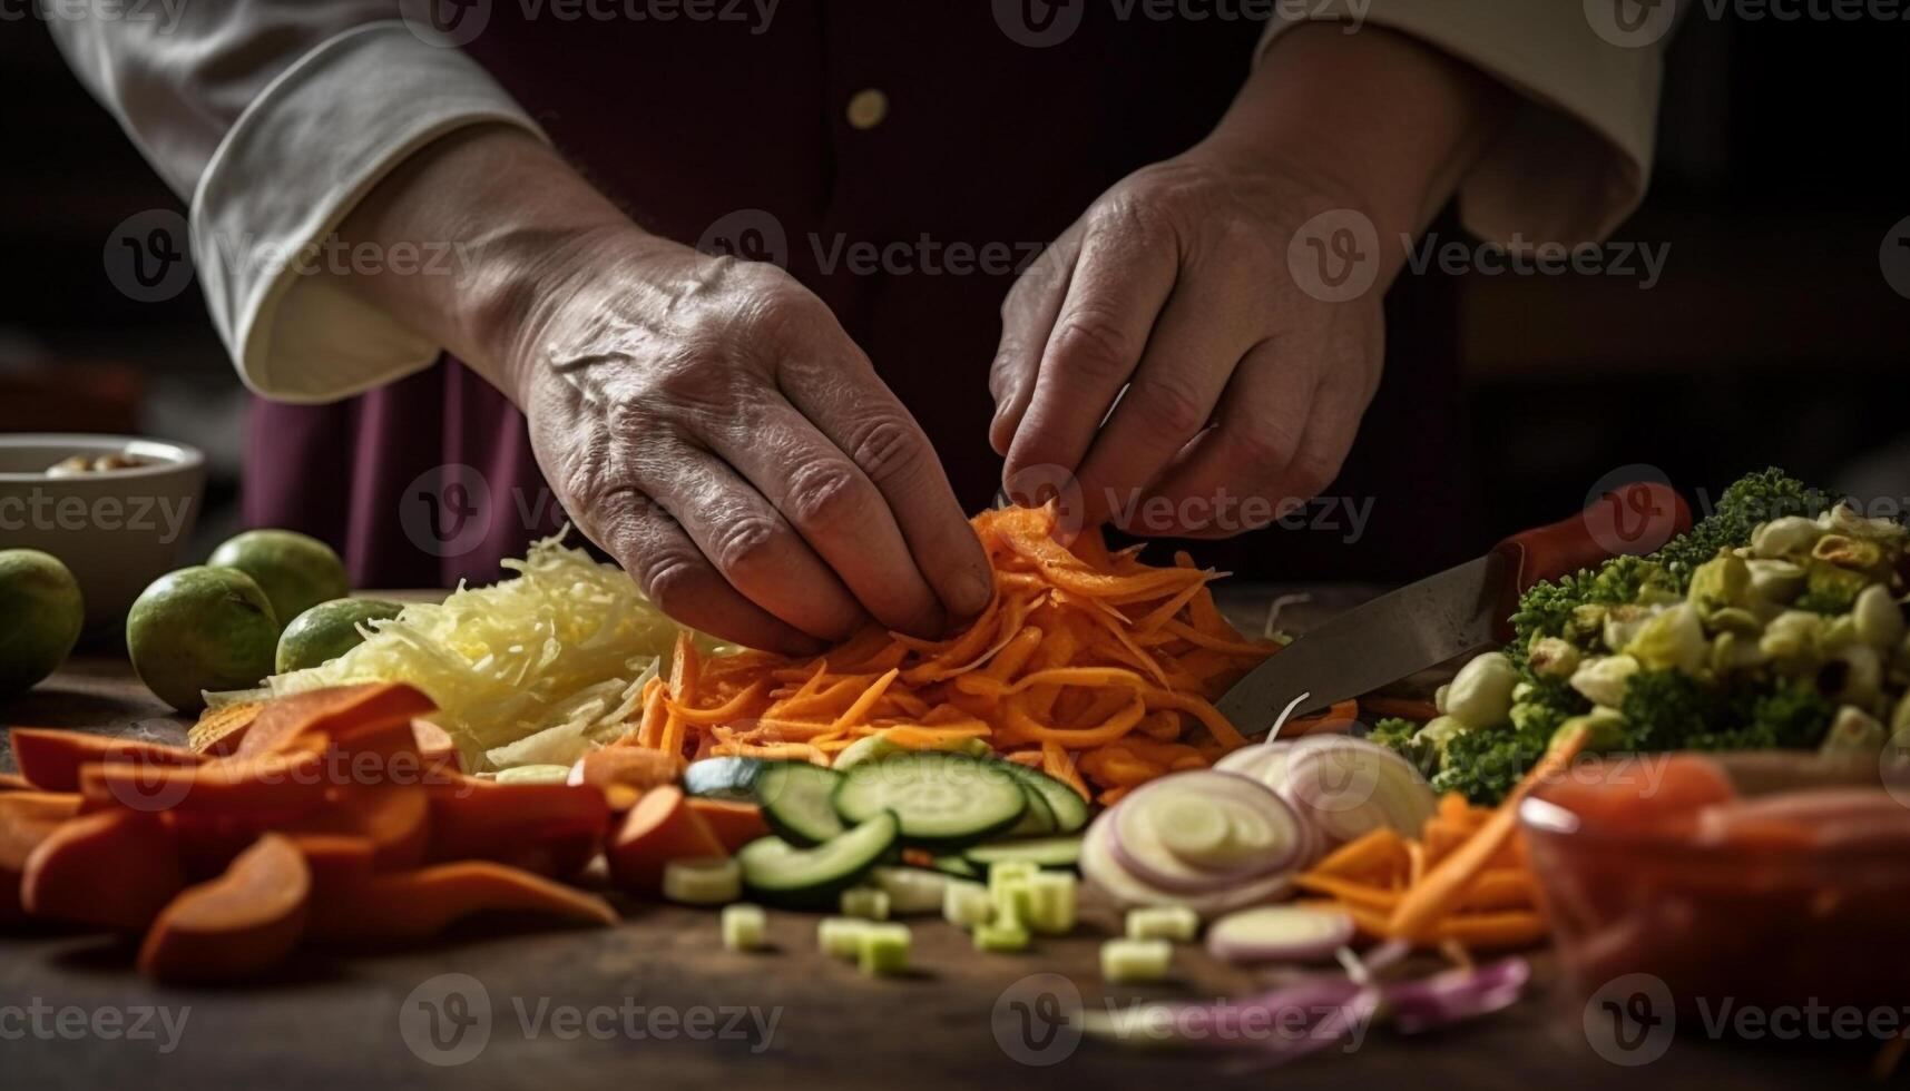
<svg viewBox="0 0 1910 1091">
<path fill-rule="evenodd" d="M 476 61 L 401 21 L 327 38 L 244 109 L 199 178 L 191 235 L 206 308 L 248 388 L 336 401 L 437 359 L 437 344 L 327 275 L 344 256 L 317 246 L 407 155 L 478 122 L 542 138 Z M 432 260 L 456 256 L 418 256 Z"/>
</svg>

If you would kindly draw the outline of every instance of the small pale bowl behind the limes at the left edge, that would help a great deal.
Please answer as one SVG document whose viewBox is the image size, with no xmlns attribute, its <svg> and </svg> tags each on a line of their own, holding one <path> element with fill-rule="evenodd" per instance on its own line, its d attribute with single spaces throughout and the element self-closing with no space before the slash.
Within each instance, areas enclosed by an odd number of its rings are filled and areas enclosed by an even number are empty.
<svg viewBox="0 0 1910 1091">
<path fill-rule="evenodd" d="M 48 476 L 73 455 L 128 455 L 145 466 Z M 206 459 L 138 436 L 0 436 L 0 548 L 57 556 L 86 596 L 86 629 L 126 621 L 149 583 L 180 567 L 206 493 Z"/>
</svg>

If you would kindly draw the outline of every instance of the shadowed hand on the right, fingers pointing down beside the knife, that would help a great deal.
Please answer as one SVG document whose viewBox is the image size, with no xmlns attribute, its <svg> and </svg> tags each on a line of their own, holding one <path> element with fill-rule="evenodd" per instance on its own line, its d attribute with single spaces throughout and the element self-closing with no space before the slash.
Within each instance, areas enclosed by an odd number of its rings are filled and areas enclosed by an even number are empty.
<svg viewBox="0 0 1910 1091">
<path fill-rule="evenodd" d="M 1324 302 L 1287 246 L 1347 206 L 1203 149 L 1102 195 L 1001 308 L 989 439 L 1010 493 L 1058 466 L 1085 525 L 1224 537 L 1324 489 L 1379 384 L 1381 287 Z"/>
</svg>

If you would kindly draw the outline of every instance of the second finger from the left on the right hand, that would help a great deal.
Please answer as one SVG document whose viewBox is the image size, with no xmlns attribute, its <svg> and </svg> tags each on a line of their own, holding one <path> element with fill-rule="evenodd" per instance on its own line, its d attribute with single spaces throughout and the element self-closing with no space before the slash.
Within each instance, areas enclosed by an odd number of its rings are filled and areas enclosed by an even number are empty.
<svg viewBox="0 0 1910 1091">
<path fill-rule="evenodd" d="M 1079 470 L 1096 426 L 1140 363 L 1177 267 L 1177 248 L 1150 237 L 1133 214 L 1117 210 L 1087 229 L 1028 413 L 1008 445 L 1007 480 L 1031 466 Z"/>
</svg>

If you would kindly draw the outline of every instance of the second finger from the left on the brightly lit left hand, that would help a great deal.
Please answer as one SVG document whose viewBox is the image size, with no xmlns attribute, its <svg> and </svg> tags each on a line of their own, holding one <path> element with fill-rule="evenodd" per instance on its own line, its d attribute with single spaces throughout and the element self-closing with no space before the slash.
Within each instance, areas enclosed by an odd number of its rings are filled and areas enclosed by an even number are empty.
<svg viewBox="0 0 1910 1091">
<path fill-rule="evenodd" d="M 743 598 L 810 636 L 840 640 L 858 629 L 861 610 L 829 566 L 720 459 L 684 447 L 668 470 L 638 483 Z"/>
</svg>

